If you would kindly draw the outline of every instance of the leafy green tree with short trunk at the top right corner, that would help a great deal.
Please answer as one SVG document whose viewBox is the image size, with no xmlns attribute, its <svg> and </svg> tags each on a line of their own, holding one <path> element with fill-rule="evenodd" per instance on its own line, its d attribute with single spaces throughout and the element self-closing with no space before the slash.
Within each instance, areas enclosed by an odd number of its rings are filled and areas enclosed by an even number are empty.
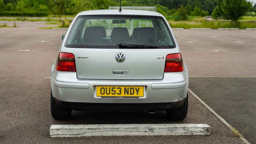
<svg viewBox="0 0 256 144">
<path fill-rule="evenodd" d="M 225 20 L 232 20 L 235 25 L 239 17 L 242 17 L 249 11 L 252 4 L 246 0 L 217 0 L 220 15 Z"/>
</svg>

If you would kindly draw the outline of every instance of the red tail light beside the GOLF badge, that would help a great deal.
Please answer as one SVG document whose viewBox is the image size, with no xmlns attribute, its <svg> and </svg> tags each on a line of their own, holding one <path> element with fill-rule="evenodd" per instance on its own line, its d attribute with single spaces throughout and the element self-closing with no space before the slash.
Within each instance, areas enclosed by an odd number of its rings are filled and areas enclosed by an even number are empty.
<svg viewBox="0 0 256 144">
<path fill-rule="evenodd" d="M 76 71 L 75 56 L 72 53 L 60 52 L 55 69 L 58 71 Z"/>
</svg>

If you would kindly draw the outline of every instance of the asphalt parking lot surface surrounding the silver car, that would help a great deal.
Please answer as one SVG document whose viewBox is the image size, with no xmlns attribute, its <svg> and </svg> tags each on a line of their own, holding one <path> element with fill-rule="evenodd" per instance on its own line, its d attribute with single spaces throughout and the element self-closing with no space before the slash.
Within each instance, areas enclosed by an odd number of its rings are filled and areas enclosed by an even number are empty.
<svg viewBox="0 0 256 144">
<path fill-rule="evenodd" d="M 23 26 L 0 28 L 0 143 L 243 143 L 191 93 L 188 116 L 178 122 L 169 121 L 165 112 L 149 115 L 144 112 L 74 111 L 70 120 L 54 120 L 50 114 L 50 79 L 44 77 L 50 76 L 50 68 L 60 48 L 60 37 L 66 30 L 37 29 L 46 27 L 45 22 L 17 22 L 18 26 L 19 23 Z M 255 77 L 255 32 L 174 30 L 189 76 Z M 234 80 L 236 84 L 230 84 Z M 251 143 L 255 141 L 255 98 L 250 99 L 255 95 L 255 78 L 191 77 L 189 83 L 194 93 L 239 132 L 248 124 L 249 131 L 244 136 Z M 251 104 L 246 102 L 248 100 Z M 223 103 L 228 107 L 221 105 Z M 211 136 L 49 137 L 51 124 L 164 123 L 208 124 L 212 128 Z"/>
</svg>

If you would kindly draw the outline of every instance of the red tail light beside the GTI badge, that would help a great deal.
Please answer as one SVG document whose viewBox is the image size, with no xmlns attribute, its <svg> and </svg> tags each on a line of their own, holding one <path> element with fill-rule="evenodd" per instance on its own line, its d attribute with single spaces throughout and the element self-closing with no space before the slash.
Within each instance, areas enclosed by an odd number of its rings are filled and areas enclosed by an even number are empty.
<svg viewBox="0 0 256 144">
<path fill-rule="evenodd" d="M 180 53 L 168 54 L 166 56 L 164 72 L 184 71 L 183 60 Z"/>
</svg>

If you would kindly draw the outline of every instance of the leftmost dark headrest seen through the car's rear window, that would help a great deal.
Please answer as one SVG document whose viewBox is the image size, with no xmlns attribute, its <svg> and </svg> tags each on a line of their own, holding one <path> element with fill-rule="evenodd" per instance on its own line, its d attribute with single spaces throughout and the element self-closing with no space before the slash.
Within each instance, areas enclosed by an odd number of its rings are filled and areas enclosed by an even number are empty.
<svg viewBox="0 0 256 144">
<path fill-rule="evenodd" d="M 97 42 L 102 40 L 102 33 L 100 28 L 86 27 L 84 31 L 85 42 Z"/>
</svg>

